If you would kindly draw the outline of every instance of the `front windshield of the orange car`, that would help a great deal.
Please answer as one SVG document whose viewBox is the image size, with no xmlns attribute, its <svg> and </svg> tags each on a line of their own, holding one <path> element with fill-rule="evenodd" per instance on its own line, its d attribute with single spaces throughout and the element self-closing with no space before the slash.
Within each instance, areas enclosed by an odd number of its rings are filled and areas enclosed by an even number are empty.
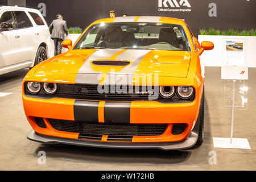
<svg viewBox="0 0 256 182">
<path fill-rule="evenodd" d="M 101 23 L 91 26 L 73 49 L 190 51 L 182 26 L 165 23 Z"/>
</svg>

